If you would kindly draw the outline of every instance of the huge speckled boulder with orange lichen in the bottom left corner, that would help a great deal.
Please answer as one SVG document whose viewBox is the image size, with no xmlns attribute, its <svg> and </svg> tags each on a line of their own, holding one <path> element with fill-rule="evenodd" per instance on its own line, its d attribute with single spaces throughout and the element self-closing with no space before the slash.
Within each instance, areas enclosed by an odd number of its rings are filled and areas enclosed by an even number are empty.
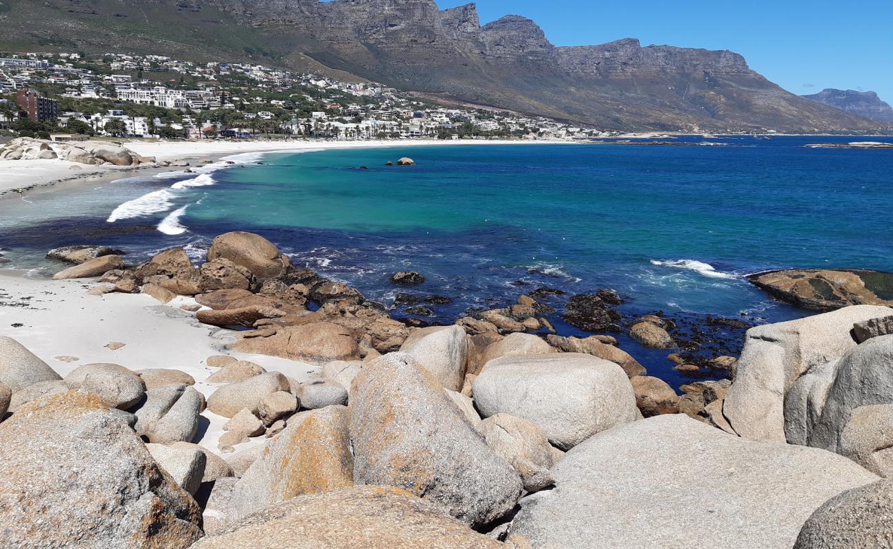
<svg viewBox="0 0 893 549">
<path fill-rule="evenodd" d="M 128 424 L 71 391 L 0 423 L 0 531 L 6 547 L 181 549 L 202 512 Z"/>
</svg>

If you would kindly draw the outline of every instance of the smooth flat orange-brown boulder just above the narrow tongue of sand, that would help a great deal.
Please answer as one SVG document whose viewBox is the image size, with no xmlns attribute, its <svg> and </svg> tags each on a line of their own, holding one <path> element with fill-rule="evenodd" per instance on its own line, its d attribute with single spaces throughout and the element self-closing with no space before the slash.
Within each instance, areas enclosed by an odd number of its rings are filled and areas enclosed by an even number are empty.
<svg viewBox="0 0 893 549">
<path fill-rule="evenodd" d="M 332 322 L 282 326 L 268 337 L 239 339 L 232 348 L 240 353 L 279 356 L 291 361 L 324 364 L 360 358 L 359 338 Z"/>
</svg>

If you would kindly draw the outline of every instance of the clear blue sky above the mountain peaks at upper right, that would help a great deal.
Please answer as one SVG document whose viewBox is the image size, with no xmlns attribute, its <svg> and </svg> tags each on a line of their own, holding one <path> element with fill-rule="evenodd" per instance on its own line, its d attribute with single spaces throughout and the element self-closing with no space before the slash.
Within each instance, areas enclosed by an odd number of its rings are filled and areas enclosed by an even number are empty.
<svg viewBox="0 0 893 549">
<path fill-rule="evenodd" d="M 467 2 L 436 0 L 443 9 Z M 477 0 L 481 23 L 530 17 L 557 46 L 635 37 L 729 49 L 797 94 L 878 92 L 893 104 L 893 0 Z"/>
</svg>

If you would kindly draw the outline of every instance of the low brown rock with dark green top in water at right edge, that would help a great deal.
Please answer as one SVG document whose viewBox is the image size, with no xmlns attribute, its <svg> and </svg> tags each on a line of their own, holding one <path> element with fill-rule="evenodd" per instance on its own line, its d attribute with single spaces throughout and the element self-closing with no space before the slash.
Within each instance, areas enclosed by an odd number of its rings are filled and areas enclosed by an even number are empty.
<svg viewBox="0 0 893 549">
<path fill-rule="evenodd" d="M 893 305 L 893 273 L 878 270 L 772 270 L 747 279 L 782 301 L 814 311 Z"/>
</svg>

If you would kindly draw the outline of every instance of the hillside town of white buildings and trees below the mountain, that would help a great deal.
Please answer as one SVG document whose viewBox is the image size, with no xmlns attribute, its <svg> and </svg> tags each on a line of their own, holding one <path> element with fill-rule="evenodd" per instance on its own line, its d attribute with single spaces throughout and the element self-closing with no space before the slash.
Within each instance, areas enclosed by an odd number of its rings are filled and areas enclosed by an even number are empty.
<svg viewBox="0 0 893 549">
<path fill-rule="evenodd" d="M 435 104 L 374 82 L 162 55 L 0 53 L 0 137 L 586 139 L 543 117 Z"/>
</svg>

